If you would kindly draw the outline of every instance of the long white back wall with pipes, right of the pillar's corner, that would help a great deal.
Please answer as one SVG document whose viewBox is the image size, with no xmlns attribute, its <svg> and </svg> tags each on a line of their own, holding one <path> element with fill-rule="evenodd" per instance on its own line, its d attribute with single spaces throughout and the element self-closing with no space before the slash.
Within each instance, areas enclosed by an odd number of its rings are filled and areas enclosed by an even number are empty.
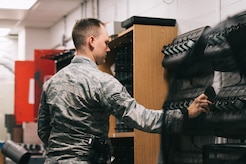
<svg viewBox="0 0 246 164">
<path fill-rule="evenodd" d="M 245 10 L 245 6 L 246 0 L 88 0 L 67 16 L 65 34 L 71 37 L 72 26 L 80 18 L 95 17 L 108 23 L 121 22 L 133 15 L 174 18 L 178 33 L 182 34 L 198 27 L 214 26 L 226 17 Z M 63 23 L 64 20 L 61 20 L 51 28 L 52 46 L 61 41 Z M 73 48 L 71 41 L 65 48 Z"/>
</svg>

